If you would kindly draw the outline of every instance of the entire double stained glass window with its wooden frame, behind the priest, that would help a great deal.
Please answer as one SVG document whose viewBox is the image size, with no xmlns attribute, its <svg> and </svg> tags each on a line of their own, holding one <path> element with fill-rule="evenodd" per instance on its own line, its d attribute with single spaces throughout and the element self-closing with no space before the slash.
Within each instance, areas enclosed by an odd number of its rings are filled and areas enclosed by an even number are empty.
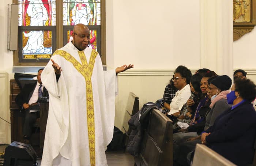
<svg viewBox="0 0 256 166">
<path fill-rule="evenodd" d="M 19 8 L 19 59 L 15 64 L 49 61 L 56 45 L 61 48 L 72 40 L 72 30 L 78 23 L 90 29 L 89 47 L 100 55 L 101 50 L 105 54 L 105 48 L 101 48 L 102 33 L 105 34 L 105 30 L 101 30 L 101 23 L 105 24 L 105 20 L 101 21 L 101 14 L 105 13 L 106 0 L 13 0 L 13 3 Z M 103 55 L 103 64 L 105 60 Z"/>
</svg>

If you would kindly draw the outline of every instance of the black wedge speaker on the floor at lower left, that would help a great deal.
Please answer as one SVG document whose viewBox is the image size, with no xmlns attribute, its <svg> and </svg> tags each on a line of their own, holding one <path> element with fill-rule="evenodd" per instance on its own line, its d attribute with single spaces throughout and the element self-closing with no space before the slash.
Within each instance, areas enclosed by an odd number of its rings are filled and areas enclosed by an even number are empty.
<svg viewBox="0 0 256 166">
<path fill-rule="evenodd" d="M 35 166 L 37 155 L 30 144 L 12 142 L 5 148 L 3 166 Z"/>
</svg>

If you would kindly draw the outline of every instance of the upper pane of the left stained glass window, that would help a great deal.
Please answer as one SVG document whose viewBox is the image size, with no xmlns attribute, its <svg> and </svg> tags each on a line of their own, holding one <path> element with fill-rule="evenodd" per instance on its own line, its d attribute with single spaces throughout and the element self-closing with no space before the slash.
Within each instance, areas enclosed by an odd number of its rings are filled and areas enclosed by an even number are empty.
<svg viewBox="0 0 256 166">
<path fill-rule="evenodd" d="M 56 0 L 19 0 L 19 26 L 55 26 Z"/>
</svg>

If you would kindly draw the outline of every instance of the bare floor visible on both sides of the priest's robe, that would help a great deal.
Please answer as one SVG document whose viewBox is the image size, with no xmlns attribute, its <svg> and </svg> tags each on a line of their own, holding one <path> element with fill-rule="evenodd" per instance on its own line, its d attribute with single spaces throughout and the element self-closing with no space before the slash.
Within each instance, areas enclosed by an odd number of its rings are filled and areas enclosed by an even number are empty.
<svg viewBox="0 0 256 166">
<path fill-rule="evenodd" d="M 5 151 L 5 147 L 8 145 L 0 145 L 0 154 Z M 108 151 L 106 152 L 106 157 L 109 166 L 133 166 L 134 160 L 133 156 L 124 153 L 123 151 Z M 3 158 L 0 158 L 0 166 L 3 163 Z M 38 166 L 41 165 L 41 159 L 37 160 Z"/>
</svg>

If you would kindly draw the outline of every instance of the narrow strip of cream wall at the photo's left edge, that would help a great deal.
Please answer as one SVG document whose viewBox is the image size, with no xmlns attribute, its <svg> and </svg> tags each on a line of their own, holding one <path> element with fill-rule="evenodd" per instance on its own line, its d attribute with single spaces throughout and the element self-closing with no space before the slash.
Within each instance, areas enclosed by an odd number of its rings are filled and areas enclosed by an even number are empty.
<svg viewBox="0 0 256 166">
<path fill-rule="evenodd" d="M 8 4 L 12 0 L 1 1 L 0 5 L 0 117 L 10 122 L 9 95 L 10 79 L 9 73 L 12 72 L 13 57 L 12 51 L 7 50 L 7 29 L 8 29 Z M 0 143 L 11 142 L 11 125 L 0 119 Z"/>
</svg>

